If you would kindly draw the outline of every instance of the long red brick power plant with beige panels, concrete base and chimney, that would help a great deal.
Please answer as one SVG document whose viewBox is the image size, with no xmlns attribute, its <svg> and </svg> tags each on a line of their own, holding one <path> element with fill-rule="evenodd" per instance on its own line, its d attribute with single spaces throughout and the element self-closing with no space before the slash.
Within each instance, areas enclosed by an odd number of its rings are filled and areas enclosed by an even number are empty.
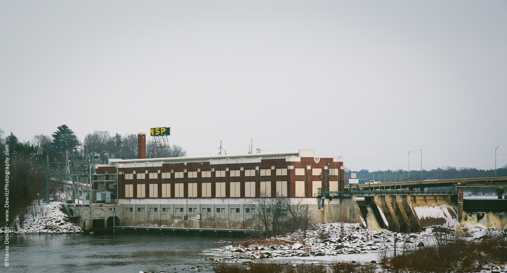
<svg viewBox="0 0 507 273">
<path fill-rule="evenodd" d="M 316 221 L 334 222 L 340 200 L 326 199 L 321 209 L 319 191 L 344 190 L 341 157 L 299 150 L 146 159 L 144 133 L 138 159 L 111 159 L 94 170 L 91 204 L 68 205 L 83 228 L 111 228 L 113 219 L 116 226 L 252 228 L 252 206 L 270 198 L 304 202 Z M 112 200 L 97 201 L 97 192 Z"/>
</svg>

